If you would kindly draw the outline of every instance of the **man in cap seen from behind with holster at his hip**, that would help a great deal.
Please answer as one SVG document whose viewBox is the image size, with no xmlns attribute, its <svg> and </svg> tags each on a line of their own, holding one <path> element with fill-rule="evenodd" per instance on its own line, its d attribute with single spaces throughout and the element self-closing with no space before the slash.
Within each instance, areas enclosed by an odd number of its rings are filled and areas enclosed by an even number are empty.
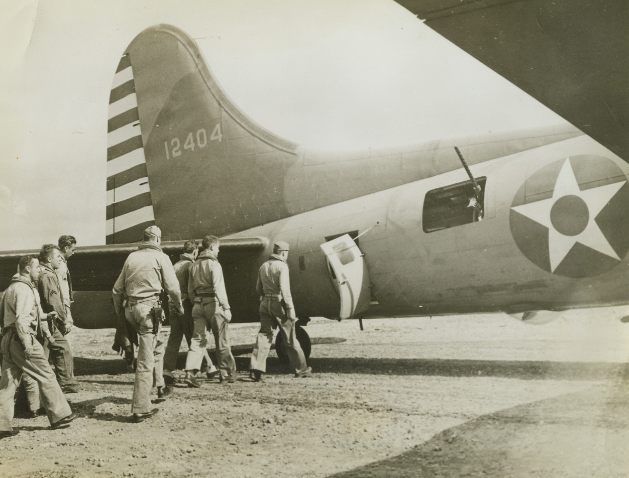
<svg viewBox="0 0 629 478">
<path fill-rule="evenodd" d="M 122 272 L 114 284 L 113 301 L 117 314 L 138 334 L 138 361 L 133 383 L 131 413 L 136 423 L 146 420 L 159 411 L 151 409 L 150 391 L 157 386 L 157 396 L 164 397 L 172 387 L 164 385 L 164 342 L 158 340 L 162 321 L 160 294 L 165 289 L 180 315 L 179 281 L 170 258 L 162 252 L 162 231 L 150 226 L 144 231 L 144 242 L 126 258 Z"/>
</svg>

